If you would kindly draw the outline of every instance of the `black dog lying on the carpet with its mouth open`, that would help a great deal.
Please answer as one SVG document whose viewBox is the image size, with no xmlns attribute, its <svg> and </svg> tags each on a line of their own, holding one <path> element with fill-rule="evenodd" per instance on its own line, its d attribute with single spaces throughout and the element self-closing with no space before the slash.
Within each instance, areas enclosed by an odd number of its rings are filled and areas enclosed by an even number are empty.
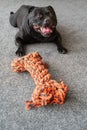
<svg viewBox="0 0 87 130">
<path fill-rule="evenodd" d="M 18 43 L 16 54 L 25 55 L 26 43 L 54 42 L 60 53 L 65 54 L 61 36 L 56 30 L 57 18 L 54 9 L 48 7 L 34 7 L 22 5 L 16 13 L 10 13 L 10 23 L 18 27 L 15 40 Z"/>
</svg>

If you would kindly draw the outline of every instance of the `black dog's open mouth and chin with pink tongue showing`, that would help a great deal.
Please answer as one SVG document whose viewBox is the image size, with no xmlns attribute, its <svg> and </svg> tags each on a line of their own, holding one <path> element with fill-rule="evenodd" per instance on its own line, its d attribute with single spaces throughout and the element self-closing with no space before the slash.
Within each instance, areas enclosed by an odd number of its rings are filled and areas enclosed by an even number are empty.
<svg viewBox="0 0 87 130">
<path fill-rule="evenodd" d="M 44 37 L 49 37 L 53 33 L 53 28 L 50 27 L 40 27 L 40 26 L 33 26 L 34 30 L 38 33 L 40 33 Z"/>
</svg>

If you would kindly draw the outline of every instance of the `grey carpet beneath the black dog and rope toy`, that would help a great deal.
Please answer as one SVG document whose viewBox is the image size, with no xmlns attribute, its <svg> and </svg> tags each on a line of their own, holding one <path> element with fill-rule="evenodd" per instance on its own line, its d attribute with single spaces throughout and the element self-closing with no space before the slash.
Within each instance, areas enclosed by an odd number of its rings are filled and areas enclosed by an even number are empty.
<svg viewBox="0 0 87 130">
<path fill-rule="evenodd" d="M 22 4 L 55 8 L 68 54 L 59 54 L 54 43 L 29 45 L 27 53 L 38 51 L 52 77 L 68 84 L 64 105 L 24 108 L 35 84 L 28 73 L 11 70 L 18 29 L 9 24 L 9 12 Z M 87 0 L 0 0 L 0 130 L 87 130 Z"/>
</svg>

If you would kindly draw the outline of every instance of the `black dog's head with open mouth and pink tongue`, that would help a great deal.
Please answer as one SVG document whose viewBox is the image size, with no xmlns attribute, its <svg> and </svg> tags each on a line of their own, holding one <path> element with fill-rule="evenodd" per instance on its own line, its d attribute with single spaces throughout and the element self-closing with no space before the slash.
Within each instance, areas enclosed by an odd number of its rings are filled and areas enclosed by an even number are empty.
<svg viewBox="0 0 87 130">
<path fill-rule="evenodd" d="M 29 26 L 44 37 L 49 37 L 56 28 L 57 18 L 54 9 L 48 7 L 32 7 L 28 15 Z"/>
</svg>

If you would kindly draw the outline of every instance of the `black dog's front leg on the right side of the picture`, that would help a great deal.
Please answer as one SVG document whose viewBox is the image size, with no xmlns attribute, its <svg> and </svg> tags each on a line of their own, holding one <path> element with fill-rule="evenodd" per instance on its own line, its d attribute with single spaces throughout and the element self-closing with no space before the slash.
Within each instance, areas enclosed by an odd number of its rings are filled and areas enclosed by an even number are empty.
<svg viewBox="0 0 87 130">
<path fill-rule="evenodd" d="M 56 31 L 56 37 L 55 37 L 54 42 L 57 45 L 57 50 L 59 51 L 59 53 L 62 53 L 62 54 L 66 54 L 67 53 L 67 49 L 65 47 L 63 47 L 63 45 L 62 45 L 61 35 L 57 31 Z"/>
</svg>

